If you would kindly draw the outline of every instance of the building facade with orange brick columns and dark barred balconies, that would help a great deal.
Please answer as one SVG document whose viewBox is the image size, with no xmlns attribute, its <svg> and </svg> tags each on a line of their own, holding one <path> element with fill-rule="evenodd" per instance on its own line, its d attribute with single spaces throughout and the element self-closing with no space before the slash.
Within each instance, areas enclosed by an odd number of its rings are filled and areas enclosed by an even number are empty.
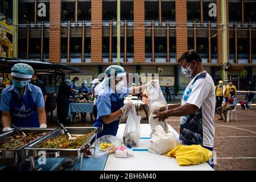
<svg viewBox="0 0 256 182">
<path fill-rule="evenodd" d="M 16 57 L 70 64 L 96 76 L 110 64 L 128 72 L 175 76 L 196 49 L 214 81 L 221 78 L 222 0 L 19 0 Z M 256 1 L 227 0 L 228 79 L 238 89 L 256 85 Z M 120 59 L 117 18 L 120 15 Z"/>
</svg>

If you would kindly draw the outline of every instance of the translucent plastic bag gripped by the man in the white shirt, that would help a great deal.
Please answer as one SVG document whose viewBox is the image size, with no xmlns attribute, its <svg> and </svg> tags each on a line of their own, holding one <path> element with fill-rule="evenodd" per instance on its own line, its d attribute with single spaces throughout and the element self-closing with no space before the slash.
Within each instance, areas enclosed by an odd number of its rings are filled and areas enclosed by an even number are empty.
<svg viewBox="0 0 256 182">
<path fill-rule="evenodd" d="M 163 127 L 164 131 L 168 131 L 166 121 L 159 121 L 158 118 L 153 118 L 155 114 L 168 109 L 168 105 L 163 96 L 159 81 L 155 81 L 154 86 L 150 86 L 148 90 L 148 100 L 150 104 L 150 117 L 148 118 L 148 122 L 150 123 L 151 129 L 154 129 L 155 126 L 160 125 Z M 150 135 L 152 134 L 153 131 Z"/>
</svg>

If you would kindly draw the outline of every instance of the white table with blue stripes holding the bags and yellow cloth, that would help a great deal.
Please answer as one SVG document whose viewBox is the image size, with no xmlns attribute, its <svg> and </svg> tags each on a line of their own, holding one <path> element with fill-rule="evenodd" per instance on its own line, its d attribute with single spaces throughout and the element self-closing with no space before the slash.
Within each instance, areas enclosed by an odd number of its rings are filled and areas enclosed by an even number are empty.
<svg viewBox="0 0 256 182">
<path fill-rule="evenodd" d="M 169 131 L 173 131 L 175 133 L 176 141 L 182 143 L 179 140 L 179 134 L 170 125 L 168 125 L 168 127 Z M 117 139 L 122 143 L 124 130 L 125 124 L 119 125 Z M 213 168 L 210 167 L 208 163 L 179 166 L 175 158 L 169 158 L 164 155 L 157 155 L 145 151 L 150 146 L 150 125 L 141 124 L 141 131 L 139 146 L 133 147 L 133 149 L 139 149 L 141 151 L 133 151 L 133 155 L 128 158 L 115 158 L 114 154 L 109 154 L 104 168 L 105 171 L 213 171 Z"/>
</svg>

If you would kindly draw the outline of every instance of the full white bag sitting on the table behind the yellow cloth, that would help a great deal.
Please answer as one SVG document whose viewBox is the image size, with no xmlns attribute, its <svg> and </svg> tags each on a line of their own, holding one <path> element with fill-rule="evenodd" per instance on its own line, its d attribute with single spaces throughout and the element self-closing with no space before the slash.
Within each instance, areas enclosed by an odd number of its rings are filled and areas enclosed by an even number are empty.
<svg viewBox="0 0 256 182">
<path fill-rule="evenodd" d="M 150 147 L 148 148 L 149 152 L 161 155 L 177 146 L 176 137 L 172 131 L 166 133 L 160 125 L 154 127 L 153 130 L 154 133 L 152 134 Z"/>
</svg>

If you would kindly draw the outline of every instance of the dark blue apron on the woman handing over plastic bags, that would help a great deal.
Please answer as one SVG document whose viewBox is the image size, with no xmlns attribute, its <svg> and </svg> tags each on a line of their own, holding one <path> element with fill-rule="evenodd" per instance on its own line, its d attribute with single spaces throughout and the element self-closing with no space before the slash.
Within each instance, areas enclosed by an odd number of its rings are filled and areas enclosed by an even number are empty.
<svg viewBox="0 0 256 182">
<path fill-rule="evenodd" d="M 123 100 L 124 98 L 120 98 L 121 94 L 112 93 L 110 95 L 111 100 L 111 113 L 114 113 L 115 111 L 119 110 L 123 106 Z M 117 135 L 118 125 L 120 121 L 119 117 L 112 123 L 109 123 L 106 125 L 101 117 L 98 117 L 93 125 L 93 127 L 101 127 L 103 125 L 103 130 L 97 135 L 97 138 L 102 137 L 103 135 Z"/>
</svg>

